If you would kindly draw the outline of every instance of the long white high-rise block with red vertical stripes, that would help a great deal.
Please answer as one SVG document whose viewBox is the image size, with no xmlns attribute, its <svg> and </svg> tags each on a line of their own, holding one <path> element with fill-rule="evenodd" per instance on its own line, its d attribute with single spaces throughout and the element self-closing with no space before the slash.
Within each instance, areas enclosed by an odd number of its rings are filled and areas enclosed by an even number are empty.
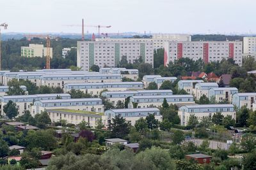
<svg viewBox="0 0 256 170">
<path fill-rule="evenodd" d="M 164 66 L 181 58 L 202 59 L 205 63 L 234 59 L 243 62 L 242 41 L 168 41 L 164 43 Z"/>
</svg>

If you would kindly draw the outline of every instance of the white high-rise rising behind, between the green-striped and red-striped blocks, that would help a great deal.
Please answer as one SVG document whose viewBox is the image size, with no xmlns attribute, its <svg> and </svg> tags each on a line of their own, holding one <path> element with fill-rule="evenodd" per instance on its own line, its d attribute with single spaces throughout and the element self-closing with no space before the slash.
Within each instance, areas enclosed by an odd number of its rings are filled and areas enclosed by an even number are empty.
<svg viewBox="0 0 256 170">
<path fill-rule="evenodd" d="M 164 48 L 164 42 L 168 41 L 191 41 L 189 34 L 153 34 L 154 47 Z"/>
</svg>

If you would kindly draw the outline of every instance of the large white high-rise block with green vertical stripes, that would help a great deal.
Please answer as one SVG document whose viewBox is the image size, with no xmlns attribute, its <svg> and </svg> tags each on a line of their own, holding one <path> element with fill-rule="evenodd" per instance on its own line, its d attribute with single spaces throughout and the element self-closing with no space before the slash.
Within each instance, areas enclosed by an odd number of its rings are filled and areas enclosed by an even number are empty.
<svg viewBox="0 0 256 170">
<path fill-rule="evenodd" d="M 154 66 L 154 43 L 152 39 L 142 38 L 105 38 L 96 41 L 77 41 L 77 67 L 89 71 L 95 64 L 102 67 L 116 67 L 122 56 L 129 63 L 141 59 Z"/>
</svg>

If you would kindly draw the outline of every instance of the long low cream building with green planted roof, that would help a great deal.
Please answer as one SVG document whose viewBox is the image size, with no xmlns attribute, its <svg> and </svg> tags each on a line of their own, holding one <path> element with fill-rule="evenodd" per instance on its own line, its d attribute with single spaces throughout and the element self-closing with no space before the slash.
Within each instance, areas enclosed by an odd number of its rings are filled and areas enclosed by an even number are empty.
<svg viewBox="0 0 256 170">
<path fill-rule="evenodd" d="M 52 122 L 67 120 L 68 124 L 77 125 L 85 121 L 90 127 L 95 127 L 97 120 L 102 118 L 103 113 L 72 109 L 49 109 L 46 110 Z"/>
</svg>

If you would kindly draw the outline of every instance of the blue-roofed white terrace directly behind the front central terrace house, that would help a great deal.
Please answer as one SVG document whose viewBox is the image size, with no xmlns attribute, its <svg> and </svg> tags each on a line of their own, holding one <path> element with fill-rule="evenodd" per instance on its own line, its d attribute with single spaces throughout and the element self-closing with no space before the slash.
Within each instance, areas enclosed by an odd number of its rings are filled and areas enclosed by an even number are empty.
<svg viewBox="0 0 256 170">
<path fill-rule="evenodd" d="M 164 98 L 168 104 L 184 105 L 195 103 L 192 95 L 132 96 L 130 97 L 129 106 L 133 104 L 136 108 L 157 108 L 162 106 Z"/>
</svg>

